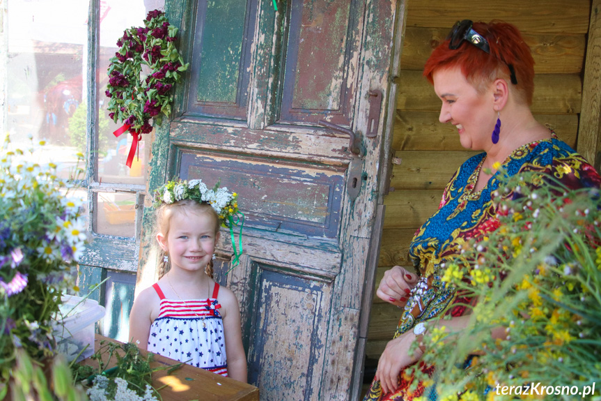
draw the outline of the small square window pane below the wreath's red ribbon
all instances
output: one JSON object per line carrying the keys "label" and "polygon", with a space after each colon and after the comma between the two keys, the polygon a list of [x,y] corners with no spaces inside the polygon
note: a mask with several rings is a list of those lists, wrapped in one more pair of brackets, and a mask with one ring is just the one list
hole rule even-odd
{"label": "small square window pane below the wreath's red ribbon", "polygon": [[136,195],[119,192],[97,192],[95,195],[94,232],[133,238],[136,228]]}

